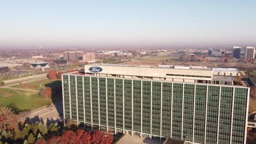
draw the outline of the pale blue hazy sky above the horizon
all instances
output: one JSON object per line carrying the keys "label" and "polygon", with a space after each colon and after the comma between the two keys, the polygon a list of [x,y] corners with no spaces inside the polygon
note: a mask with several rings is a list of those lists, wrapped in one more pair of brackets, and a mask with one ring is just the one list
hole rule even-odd
{"label": "pale blue hazy sky above the horizon", "polygon": [[256,1],[1,1],[0,45],[256,44]]}

